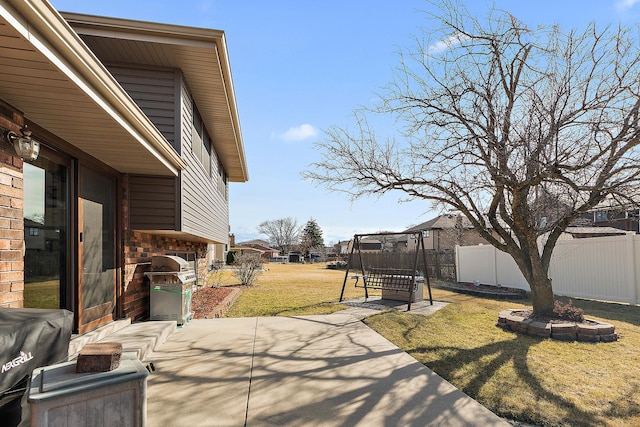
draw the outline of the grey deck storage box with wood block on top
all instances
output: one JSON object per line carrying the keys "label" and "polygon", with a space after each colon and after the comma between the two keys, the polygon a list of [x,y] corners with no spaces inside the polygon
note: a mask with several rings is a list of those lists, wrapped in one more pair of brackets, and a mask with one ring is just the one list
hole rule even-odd
{"label": "grey deck storage box with wood block on top", "polygon": [[31,426],[143,427],[148,375],[132,356],[108,372],[76,373],[76,362],[38,368],[28,389]]}

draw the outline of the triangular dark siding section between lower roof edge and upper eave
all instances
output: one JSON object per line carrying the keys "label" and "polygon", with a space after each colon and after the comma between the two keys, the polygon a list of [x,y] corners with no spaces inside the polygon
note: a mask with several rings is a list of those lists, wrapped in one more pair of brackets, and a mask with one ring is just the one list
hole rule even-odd
{"label": "triangular dark siding section between lower roof edge and upper eave", "polygon": [[121,66],[110,66],[109,71],[167,141],[180,152],[175,120],[177,71]]}

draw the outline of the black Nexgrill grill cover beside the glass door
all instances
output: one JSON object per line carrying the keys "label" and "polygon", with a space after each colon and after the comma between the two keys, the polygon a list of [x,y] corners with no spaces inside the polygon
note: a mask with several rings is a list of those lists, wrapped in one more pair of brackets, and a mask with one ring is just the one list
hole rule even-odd
{"label": "black Nexgrill grill cover beside the glass door", "polygon": [[35,368],[67,361],[72,327],[67,310],[0,308],[0,419],[19,415]]}

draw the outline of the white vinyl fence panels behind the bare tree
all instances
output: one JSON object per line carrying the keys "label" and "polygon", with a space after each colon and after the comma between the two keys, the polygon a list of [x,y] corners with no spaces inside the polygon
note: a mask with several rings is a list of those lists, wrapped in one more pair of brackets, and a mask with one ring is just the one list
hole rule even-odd
{"label": "white vinyl fence panels behind the bare tree", "polygon": [[[456,247],[458,282],[530,290],[510,255],[491,245]],[[549,275],[556,295],[640,304],[640,235],[559,240]]]}

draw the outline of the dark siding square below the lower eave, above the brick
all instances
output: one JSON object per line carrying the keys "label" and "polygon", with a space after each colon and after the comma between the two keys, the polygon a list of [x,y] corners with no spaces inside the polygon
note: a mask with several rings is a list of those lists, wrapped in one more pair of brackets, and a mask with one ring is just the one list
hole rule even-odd
{"label": "dark siding square below the lower eave, above the brick", "polygon": [[176,230],[176,178],[129,177],[129,228]]}

